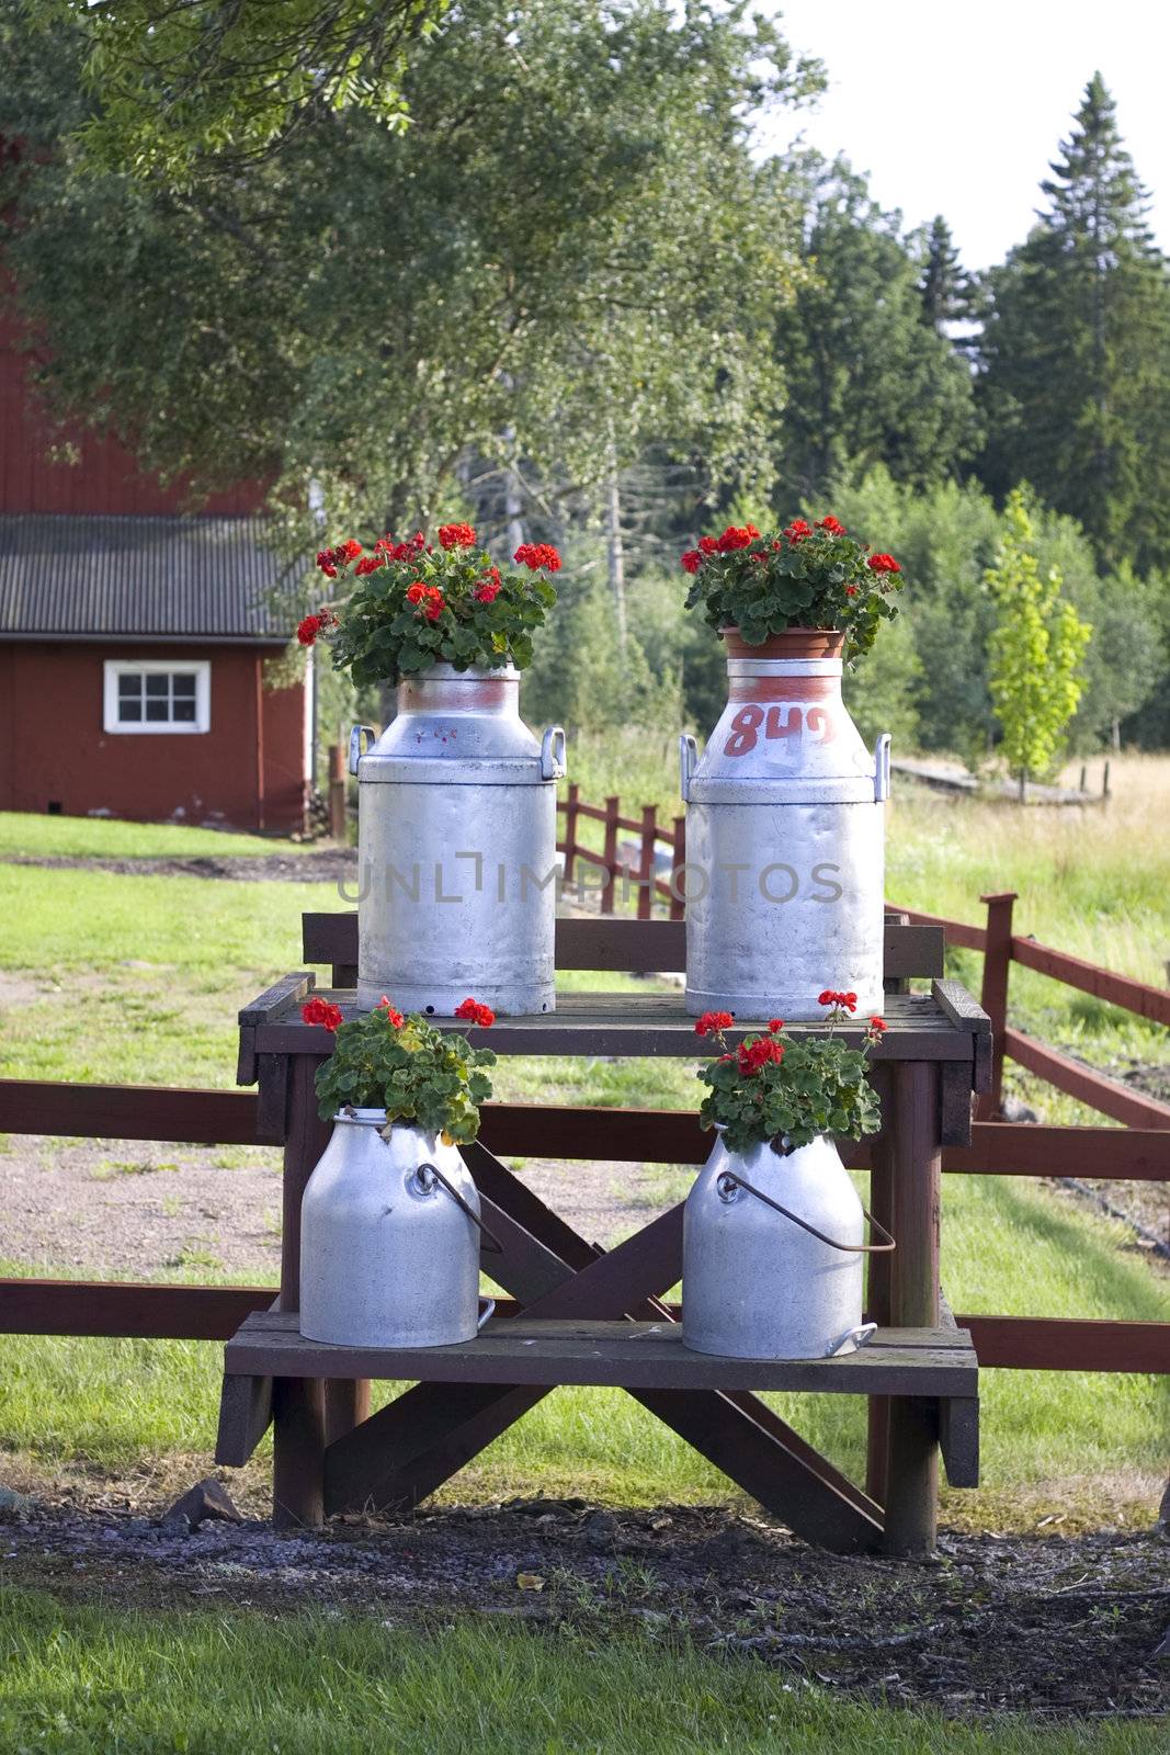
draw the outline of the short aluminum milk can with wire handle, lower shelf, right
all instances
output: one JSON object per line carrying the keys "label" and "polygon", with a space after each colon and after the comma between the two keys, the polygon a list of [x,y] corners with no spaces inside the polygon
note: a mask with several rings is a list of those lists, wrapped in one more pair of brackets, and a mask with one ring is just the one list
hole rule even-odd
{"label": "short aluminum milk can with wire handle, lower shelf, right", "polygon": [[682,1216],[682,1343],[728,1358],[830,1358],[875,1330],[861,1320],[858,1192],[831,1139],[795,1151],[716,1141]]}

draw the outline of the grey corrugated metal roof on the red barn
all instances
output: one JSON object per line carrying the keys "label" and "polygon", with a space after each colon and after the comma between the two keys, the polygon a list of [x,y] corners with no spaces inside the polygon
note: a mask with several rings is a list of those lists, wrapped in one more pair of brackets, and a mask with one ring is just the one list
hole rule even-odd
{"label": "grey corrugated metal roof on the red barn", "polygon": [[286,574],[254,518],[0,514],[0,639],[288,639]]}

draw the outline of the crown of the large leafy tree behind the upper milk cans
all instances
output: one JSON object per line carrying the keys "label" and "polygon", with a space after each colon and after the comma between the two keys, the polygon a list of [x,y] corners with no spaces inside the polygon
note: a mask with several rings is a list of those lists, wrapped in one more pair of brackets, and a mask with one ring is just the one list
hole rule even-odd
{"label": "crown of the large leafy tree behind the upper milk cans", "polygon": [[746,114],[819,74],[746,5],[477,0],[409,65],[405,132],[314,111],[191,190],[53,149],[84,42],[72,79],[19,33],[0,47],[0,128],[32,147],[4,249],[40,381],[149,467],[274,477],[302,541],[310,481],[333,526],[393,528],[468,456],[551,505],[663,435],[716,481],[767,479],[798,265]]}

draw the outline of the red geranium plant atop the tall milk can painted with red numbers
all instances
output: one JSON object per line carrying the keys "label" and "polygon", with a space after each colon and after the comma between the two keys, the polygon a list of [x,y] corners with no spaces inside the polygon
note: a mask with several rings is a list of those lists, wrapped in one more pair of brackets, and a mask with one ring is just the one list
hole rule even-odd
{"label": "red geranium plant atop the tall milk can painted with red numbers", "polygon": [[786,628],[838,628],[856,658],[898,612],[889,602],[902,586],[898,563],[868,555],[831,516],[816,525],[793,519],[770,537],[754,525],[728,525],[717,539],[700,537],[682,567],[693,574],[686,607],[702,604],[709,628],[738,628],[749,646]]}

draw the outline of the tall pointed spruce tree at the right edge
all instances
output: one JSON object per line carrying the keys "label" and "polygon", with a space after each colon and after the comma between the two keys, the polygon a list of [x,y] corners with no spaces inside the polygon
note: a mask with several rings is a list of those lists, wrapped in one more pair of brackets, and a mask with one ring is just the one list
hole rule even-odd
{"label": "tall pointed spruce tree at the right edge", "polygon": [[1021,479],[1110,563],[1170,541],[1170,272],[1100,74],[1028,240],[989,276],[981,358],[996,497]]}

